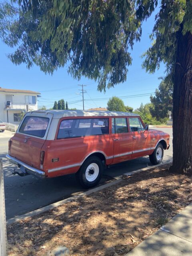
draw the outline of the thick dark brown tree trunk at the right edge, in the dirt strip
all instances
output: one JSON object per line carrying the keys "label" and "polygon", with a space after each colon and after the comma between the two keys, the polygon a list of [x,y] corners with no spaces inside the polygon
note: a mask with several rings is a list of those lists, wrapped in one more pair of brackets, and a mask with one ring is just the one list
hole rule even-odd
{"label": "thick dark brown tree trunk at the right edge, in the dirt strip", "polygon": [[192,34],[177,34],[171,172],[192,175]]}

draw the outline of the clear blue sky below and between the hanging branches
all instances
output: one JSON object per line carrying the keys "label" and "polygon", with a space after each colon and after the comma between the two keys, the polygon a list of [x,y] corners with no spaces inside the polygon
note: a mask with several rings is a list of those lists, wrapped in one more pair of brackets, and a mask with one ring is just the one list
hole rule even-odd
{"label": "clear blue sky below and between the hanging branches", "polygon": [[[25,64],[15,66],[6,57],[6,54],[13,51],[12,48],[2,42],[0,42],[0,87],[38,91],[41,93],[39,106],[45,105],[50,108],[55,100],[64,98],[65,101],[68,101],[69,108],[77,109],[82,109],[82,102],[70,102],[82,100],[82,97],[76,94],[80,92],[78,84],[86,84],[85,90],[87,93],[84,98],[89,99],[89,101],[85,101],[85,109],[107,106],[108,99],[92,100],[96,98],[132,96],[155,92],[160,83],[158,77],[164,76],[164,65],[155,74],[148,74],[141,68],[143,60],[140,57],[151,44],[149,35],[154,26],[154,16],[155,14],[143,24],[141,40],[134,45],[134,50],[131,52],[133,60],[132,65],[128,67],[126,82],[118,84],[115,88],[107,89],[105,94],[97,91],[97,83],[93,80],[84,77],[80,81],[74,80],[68,75],[67,66],[55,71],[52,76],[44,74],[37,66],[33,66],[30,70],[26,68]],[[144,104],[150,102],[150,96],[132,96],[131,98],[124,98],[123,101],[125,105],[135,109],[140,106],[141,102]]]}

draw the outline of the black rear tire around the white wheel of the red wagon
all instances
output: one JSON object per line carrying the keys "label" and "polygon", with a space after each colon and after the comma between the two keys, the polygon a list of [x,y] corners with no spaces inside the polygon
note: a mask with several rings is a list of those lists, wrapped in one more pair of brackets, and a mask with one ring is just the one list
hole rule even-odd
{"label": "black rear tire around the white wheel of the red wagon", "polygon": [[[96,169],[94,169],[94,166],[93,167],[91,166],[91,168],[89,170],[87,170],[87,168],[90,164],[94,164]],[[87,170],[87,172],[86,172],[86,170]],[[91,173],[90,171],[93,173]],[[94,176],[92,176],[94,174],[94,172],[95,172],[95,175],[97,175],[97,173],[98,173],[98,175],[95,177],[95,179],[94,179]],[[99,183],[101,176],[102,176],[102,172],[103,172],[103,164],[102,164],[102,161],[100,160],[100,158],[98,158],[97,156],[90,156],[89,158],[87,158],[85,160],[85,162],[82,164],[82,166],[76,173],[76,178],[83,188],[92,188]],[[86,178],[86,176],[88,176],[88,175],[90,175],[90,179],[94,179],[94,180],[89,181]]]}

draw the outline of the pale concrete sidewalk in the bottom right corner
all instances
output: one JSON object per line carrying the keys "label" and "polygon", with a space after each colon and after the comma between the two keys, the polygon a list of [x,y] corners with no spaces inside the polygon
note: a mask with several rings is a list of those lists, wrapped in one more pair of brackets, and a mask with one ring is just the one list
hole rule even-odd
{"label": "pale concrete sidewalk in the bottom right corner", "polygon": [[192,256],[192,204],[126,256]]}

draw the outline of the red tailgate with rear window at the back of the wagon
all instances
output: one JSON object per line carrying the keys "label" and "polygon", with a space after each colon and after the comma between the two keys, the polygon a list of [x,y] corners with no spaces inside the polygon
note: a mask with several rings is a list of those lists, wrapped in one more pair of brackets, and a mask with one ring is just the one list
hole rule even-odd
{"label": "red tailgate with rear window at the back of the wagon", "polygon": [[11,139],[10,155],[39,168],[40,152],[46,140],[51,116],[26,116]]}

